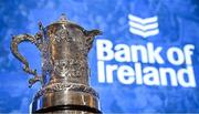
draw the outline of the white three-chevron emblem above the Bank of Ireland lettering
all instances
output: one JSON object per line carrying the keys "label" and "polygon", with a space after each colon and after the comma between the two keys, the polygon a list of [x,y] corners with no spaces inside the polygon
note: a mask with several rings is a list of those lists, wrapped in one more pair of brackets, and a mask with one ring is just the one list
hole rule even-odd
{"label": "white three-chevron emblem above the Bank of Ireland lettering", "polygon": [[142,19],[139,17],[128,14],[129,32],[133,34],[148,38],[159,33],[158,17],[149,17]]}

